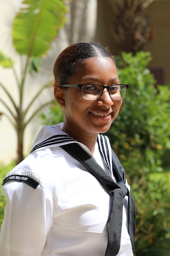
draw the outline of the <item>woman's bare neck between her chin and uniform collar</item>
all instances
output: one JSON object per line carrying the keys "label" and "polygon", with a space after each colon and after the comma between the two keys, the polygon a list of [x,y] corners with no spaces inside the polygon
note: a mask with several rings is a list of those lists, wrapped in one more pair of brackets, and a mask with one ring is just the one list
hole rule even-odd
{"label": "woman's bare neck between her chin and uniform collar", "polygon": [[80,132],[79,130],[70,129],[70,128],[68,129],[65,124],[62,130],[63,132],[69,134],[71,137],[75,138],[77,141],[86,145],[92,154],[94,153],[95,143],[97,141],[98,134],[95,133],[94,135],[89,135],[89,134]]}

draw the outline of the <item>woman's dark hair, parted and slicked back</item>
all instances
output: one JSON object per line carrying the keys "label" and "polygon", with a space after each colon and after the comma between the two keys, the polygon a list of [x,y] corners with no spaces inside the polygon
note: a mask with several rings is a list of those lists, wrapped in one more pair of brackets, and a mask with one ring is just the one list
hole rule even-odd
{"label": "woman's dark hair, parted and slicked back", "polygon": [[53,85],[61,85],[67,83],[67,78],[81,70],[84,59],[96,56],[112,58],[108,48],[100,45],[100,43],[75,43],[63,50],[54,64],[54,83]]}

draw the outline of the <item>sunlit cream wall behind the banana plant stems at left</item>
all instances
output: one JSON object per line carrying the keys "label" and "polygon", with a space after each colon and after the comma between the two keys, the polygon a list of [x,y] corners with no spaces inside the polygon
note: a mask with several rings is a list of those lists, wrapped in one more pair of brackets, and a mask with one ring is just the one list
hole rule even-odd
{"label": "sunlit cream wall behind the banana plant stems at left", "polygon": [[[20,73],[20,59],[13,48],[11,26],[15,12],[19,9],[21,1],[0,0],[0,50],[14,59],[18,74]],[[28,104],[31,96],[35,94],[35,91],[38,90],[39,86],[52,80],[54,61],[67,45],[77,41],[94,40],[97,0],[73,0],[72,3],[74,4],[74,10],[72,13],[69,12],[67,14],[67,23],[60,30],[58,38],[52,43],[52,48],[43,61],[41,72],[35,77],[29,77],[27,80],[24,100],[25,106]],[[74,20],[73,25],[72,20]],[[17,101],[18,91],[12,70],[0,67],[0,81],[13,92],[14,100]],[[0,95],[2,94],[3,91],[0,88]],[[50,95],[53,97],[52,94]],[[5,94],[3,94],[3,99],[7,104],[10,104]],[[0,102],[0,112],[4,111],[5,108]],[[24,137],[25,155],[30,151],[31,145],[41,126],[41,120],[38,117],[34,118],[30,125],[27,126]],[[16,143],[16,132],[8,119],[3,115],[0,118],[0,165],[2,162],[9,163],[13,159],[16,159]]]}

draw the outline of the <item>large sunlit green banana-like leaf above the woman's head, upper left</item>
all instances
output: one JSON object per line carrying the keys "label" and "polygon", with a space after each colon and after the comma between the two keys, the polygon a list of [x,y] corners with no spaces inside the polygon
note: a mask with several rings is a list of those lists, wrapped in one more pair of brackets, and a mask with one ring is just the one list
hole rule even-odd
{"label": "large sunlit green banana-like leaf above the woman's head, upper left", "polygon": [[40,57],[64,26],[64,0],[24,0],[13,21],[13,43],[20,55]]}

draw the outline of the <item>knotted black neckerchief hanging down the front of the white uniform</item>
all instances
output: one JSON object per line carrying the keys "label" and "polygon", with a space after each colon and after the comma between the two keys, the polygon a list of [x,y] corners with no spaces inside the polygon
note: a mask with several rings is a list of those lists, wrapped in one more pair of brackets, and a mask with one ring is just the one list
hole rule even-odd
{"label": "knotted black neckerchief hanging down the front of the white uniform", "polygon": [[135,206],[134,200],[127,189],[125,172],[114,151],[112,151],[112,165],[117,183],[107,175],[97,162],[82,149],[78,143],[61,145],[65,151],[77,159],[87,170],[98,179],[111,197],[110,213],[107,219],[108,243],[105,256],[116,256],[120,249],[122,230],[123,198],[128,195],[128,232],[134,252],[135,238]]}

